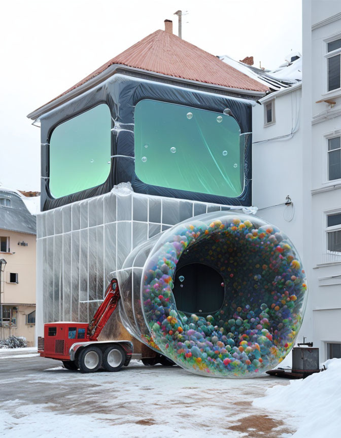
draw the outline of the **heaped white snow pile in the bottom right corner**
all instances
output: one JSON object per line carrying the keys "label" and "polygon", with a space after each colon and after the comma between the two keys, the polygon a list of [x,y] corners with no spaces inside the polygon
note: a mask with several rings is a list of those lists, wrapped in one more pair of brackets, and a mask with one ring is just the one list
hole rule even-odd
{"label": "heaped white snow pile in the bottom right corner", "polygon": [[341,359],[329,359],[324,365],[327,371],[269,388],[253,406],[282,411],[297,427],[294,438],[339,436]]}

